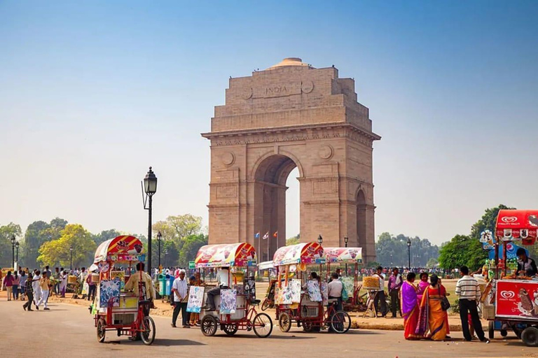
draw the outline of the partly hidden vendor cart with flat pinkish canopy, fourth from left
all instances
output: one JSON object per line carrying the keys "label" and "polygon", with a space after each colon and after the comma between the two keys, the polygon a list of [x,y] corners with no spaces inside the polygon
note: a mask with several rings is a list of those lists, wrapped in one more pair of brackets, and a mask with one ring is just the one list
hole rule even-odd
{"label": "partly hidden vendor cart with flat pinkish canopy, fourth from left", "polygon": [[[357,299],[359,298],[359,291],[361,285],[359,285],[359,265],[362,264],[362,248],[324,248],[327,273],[326,277],[329,278],[331,274],[331,267],[345,265],[345,275],[340,280],[342,281],[345,291],[350,296],[348,299],[343,298],[344,306],[347,309],[353,309],[357,306]],[[347,276],[347,265],[351,265],[353,269],[353,277]]]}

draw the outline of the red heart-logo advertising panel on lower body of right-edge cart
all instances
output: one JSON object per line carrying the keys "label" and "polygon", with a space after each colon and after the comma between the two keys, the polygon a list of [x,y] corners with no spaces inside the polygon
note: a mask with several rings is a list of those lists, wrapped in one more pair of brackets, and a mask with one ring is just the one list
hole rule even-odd
{"label": "red heart-logo advertising panel on lower body of right-edge cart", "polygon": [[495,316],[518,319],[538,317],[538,282],[497,281]]}

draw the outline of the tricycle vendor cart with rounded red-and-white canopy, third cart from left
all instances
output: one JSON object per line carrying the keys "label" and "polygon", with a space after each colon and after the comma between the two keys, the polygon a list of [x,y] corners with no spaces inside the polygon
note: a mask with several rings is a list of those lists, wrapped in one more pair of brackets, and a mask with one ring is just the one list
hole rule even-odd
{"label": "tricycle vendor cart with rounded red-and-white canopy, third cart from left", "polygon": [[321,268],[324,263],[324,249],[319,243],[284,246],[275,252],[275,306],[281,331],[288,332],[293,322],[298,327],[302,325],[305,331],[329,328],[336,333],[345,333],[350,329],[350,316],[343,310],[336,310],[337,300],[328,299],[326,282],[315,279],[303,282],[302,273],[308,266],[319,265]]}

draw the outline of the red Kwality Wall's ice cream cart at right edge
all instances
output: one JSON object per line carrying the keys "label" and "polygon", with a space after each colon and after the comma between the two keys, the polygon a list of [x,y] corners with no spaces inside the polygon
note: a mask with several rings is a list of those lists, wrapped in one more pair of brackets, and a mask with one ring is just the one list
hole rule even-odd
{"label": "red Kwality Wall's ice cream cart at right edge", "polygon": [[534,245],[537,229],[538,210],[499,210],[495,237],[488,243],[495,246],[495,278],[481,300],[485,319],[510,327],[523,343],[532,347],[538,347],[538,277],[524,271],[516,275],[507,259],[511,257],[509,250],[516,246],[512,243]]}

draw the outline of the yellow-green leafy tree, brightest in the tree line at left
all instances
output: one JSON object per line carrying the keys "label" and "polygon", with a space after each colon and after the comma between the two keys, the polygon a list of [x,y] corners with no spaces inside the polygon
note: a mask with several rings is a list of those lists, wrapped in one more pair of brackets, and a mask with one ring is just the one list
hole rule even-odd
{"label": "yellow-green leafy tree, brightest in the tree line at left", "polygon": [[81,224],[68,224],[60,231],[60,237],[47,241],[39,248],[38,262],[43,265],[69,267],[73,248],[73,267],[89,264],[88,255],[95,253],[97,245],[91,234]]}

